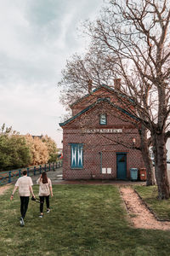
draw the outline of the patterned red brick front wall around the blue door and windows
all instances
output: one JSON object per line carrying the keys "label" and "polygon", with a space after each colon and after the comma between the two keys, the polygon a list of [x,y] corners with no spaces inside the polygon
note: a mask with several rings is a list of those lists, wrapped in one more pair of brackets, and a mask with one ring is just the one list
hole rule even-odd
{"label": "patterned red brick front wall around the blue door and windows", "polygon": [[[107,113],[107,125],[99,125],[101,112]],[[87,133],[84,129],[88,128],[121,128],[122,133]],[[139,133],[131,119],[116,112],[107,103],[97,105],[63,127],[64,179],[115,179],[116,153],[119,152],[127,153],[127,178],[130,178],[130,168],[144,167],[140,151],[130,148],[133,146],[133,138],[139,143]],[[83,144],[82,169],[71,169],[70,143]],[[102,152],[102,166],[99,152]],[[102,174],[101,167],[111,168],[111,174]]]}

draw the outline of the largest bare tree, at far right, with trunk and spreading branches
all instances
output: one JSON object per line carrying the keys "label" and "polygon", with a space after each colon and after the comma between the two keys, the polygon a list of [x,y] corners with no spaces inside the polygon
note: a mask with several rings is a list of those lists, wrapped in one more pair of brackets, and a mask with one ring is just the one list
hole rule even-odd
{"label": "largest bare tree, at far right, with trunk and spreading branches", "polygon": [[160,199],[169,198],[166,140],[170,96],[170,3],[167,0],[112,0],[99,20],[86,25],[93,44],[116,58],[122,92],[117,99],[150,131]]}

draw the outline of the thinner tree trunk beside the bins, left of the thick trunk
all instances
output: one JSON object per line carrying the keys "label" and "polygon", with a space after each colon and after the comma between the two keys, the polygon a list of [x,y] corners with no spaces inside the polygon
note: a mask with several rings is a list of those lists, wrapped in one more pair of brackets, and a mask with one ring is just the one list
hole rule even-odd
{"label": "thinner tree trunk beside the bins, left of the thick trunk", "polygon": [[155,185],[155,177],[153,164],[150,159],[150,152],[148,148],[148,140],[147,140],[147,129],[142,125],[141,130],[139,131],[140,142],[141,142],[141,152],[144,160],[144,166],[146,168],[146,186]]}

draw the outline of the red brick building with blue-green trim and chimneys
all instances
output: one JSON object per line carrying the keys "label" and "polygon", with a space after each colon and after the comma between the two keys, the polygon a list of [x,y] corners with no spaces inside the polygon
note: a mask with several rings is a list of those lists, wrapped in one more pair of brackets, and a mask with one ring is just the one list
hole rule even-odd
{"label": "red brick building with blue-green trim and chimneys", "polygon": [[101,85],[89,91],[71,105],[71,119],[59,124],[64,179],[129,179],[130,168],[144,167],[140,151],[132,148],[139,143],[135,118],[114,90]]}

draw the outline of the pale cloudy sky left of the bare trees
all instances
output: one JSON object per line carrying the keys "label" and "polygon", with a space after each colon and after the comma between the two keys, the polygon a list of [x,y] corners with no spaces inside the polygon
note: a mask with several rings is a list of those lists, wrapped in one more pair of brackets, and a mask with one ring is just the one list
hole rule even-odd
{"label": "pale cloudy sky left of the bare trees", "polygon": [[[0,0],[0,123],[61,147],[61,69],[85,45],[77,27],[103,0]],[[60,129],[61,130],[61,129]]]}

